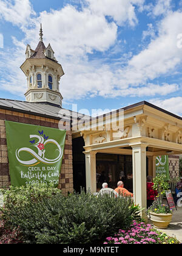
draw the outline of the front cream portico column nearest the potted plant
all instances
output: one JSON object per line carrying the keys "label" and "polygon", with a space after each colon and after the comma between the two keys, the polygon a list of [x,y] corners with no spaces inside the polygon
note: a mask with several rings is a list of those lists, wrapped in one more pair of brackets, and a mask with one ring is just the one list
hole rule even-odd
{"label": "front cream portico column nearest the potted plant", "polygon": [[[141,208],[147,207],[146,191],[146,144],[136,144],[132,146],[133,157],[133,199],[135,204]],[[145,210],[141,216],[146,217]]]}

